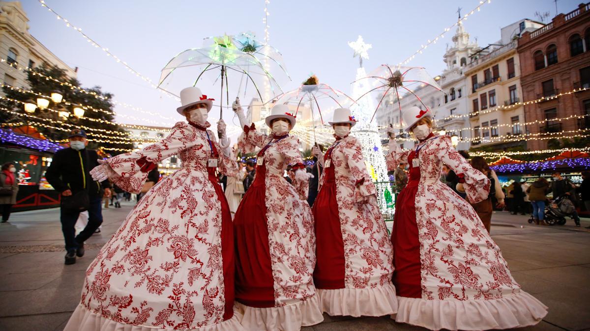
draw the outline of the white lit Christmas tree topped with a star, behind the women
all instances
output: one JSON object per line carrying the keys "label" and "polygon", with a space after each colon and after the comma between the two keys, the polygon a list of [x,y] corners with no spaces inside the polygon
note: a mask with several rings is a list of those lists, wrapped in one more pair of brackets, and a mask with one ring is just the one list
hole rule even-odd
{"label": "white lit Christmas tree topped with a star, behind the women", "polygon": [[[360,80],[360,78],[367,75],[363,67],[363,58],[369,58],[367,51],[372,46],[366,44],[361,36],[356,41],[349,42],[348,45],[355,51],[354,57],[359,57],[359,68],[356,69],[356,79],[352,84],[352,98],[356,100],[368,91],[369,80]],[[353,127],[352,134],[359,140],[362,147],[369,175],[374,182],[381,182],[376,185],[381,213],[393,215],[394,193],[388,183],[385,183],[389,181],[389,177],[387,176],[385,155],[381,147],[381,135],[379,135],[377,123],[371,122],[371,115],[375,110],[373,100],[370,97],[363,97],[357,101],[357,104],[353,104],[350,110],[358,121]]]}

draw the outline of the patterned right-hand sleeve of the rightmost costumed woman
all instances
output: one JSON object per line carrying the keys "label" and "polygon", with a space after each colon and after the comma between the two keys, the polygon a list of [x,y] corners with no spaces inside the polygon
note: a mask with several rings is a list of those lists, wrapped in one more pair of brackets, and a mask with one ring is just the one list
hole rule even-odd
{"label": "patterned right-hand sleeve of the rightmost costumed woman", "polygon": [[451,137],[443,135],[435,138],[432,148],[435,148],[434,153],[439,160],[455,171],[455,174],[460,178],[459,182],[463,183],[463,188],[471,203],[478,203],[487,198],[490,193],[490,180],[481,171],[471,167],[471,164],[457,153],[451,144]]}

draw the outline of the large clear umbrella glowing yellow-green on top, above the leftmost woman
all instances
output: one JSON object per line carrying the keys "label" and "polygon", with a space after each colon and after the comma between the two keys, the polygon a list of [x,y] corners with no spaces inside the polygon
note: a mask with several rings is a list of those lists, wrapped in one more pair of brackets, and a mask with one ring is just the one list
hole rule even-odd
{"label": "large clear umbrella glowing yellow-green on top, above the leftmost woman", "polygon": [[253,55],[240,51],[228,36],[215,38],[214,44],[208,47],[186,49],[173,57],[162,69],[158,87],[178,96],[183,88],[205,80],[212,82],[214,87],[221,85],[220,116],[224,108],[224,94],[225,107],[230,107],[230,81],[235,86],[249,81],[263,102],[267,100],[260,92],[261,86],[274,86],[280,90],[263,64]]}

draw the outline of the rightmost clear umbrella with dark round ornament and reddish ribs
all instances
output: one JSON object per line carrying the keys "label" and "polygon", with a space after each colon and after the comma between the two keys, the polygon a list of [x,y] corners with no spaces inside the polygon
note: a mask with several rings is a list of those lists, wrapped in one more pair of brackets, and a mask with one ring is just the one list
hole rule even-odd
{"label": "rightmost clear umbrella with dark round ornament and reddish ribs", "polygon": [[357,81],[360,80],[369,80],[369,84],[368,91],[361,94],[357,101],[363,97],[373,97],[373,100],[379,100],[371,121],[379,110],[383,99],[388,95],[392,95],[394,102],[397,102],[399,118],[401,118],[402,106],[400,100],[402,98],[415,98],[424,108],[428,108],[418,94],[423,94],[428,89],[434,89],[442,93],[438,83],[422,67],[400,67],[398,65],[382,64],[369,72],[366,77],[359,78]]}

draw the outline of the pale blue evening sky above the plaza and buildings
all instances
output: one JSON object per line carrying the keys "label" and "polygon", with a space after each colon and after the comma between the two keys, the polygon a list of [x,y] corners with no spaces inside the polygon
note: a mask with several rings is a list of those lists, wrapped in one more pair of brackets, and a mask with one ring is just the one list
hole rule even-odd
{"label": "pale blue evening sky above the plaza and buildings", "polygon": [[[110,49],[131,67],[158,81],[160,69],[174,55],[187,48],[201,47],[202,39],[211,35],[255,32],[264,38],[264,0],[225,1],[74,1],[45,0],[58,14],[82,28],[82,31]],[[287,70],[293,81],[283,88],[292,90],[310,73],[344,92],[350,92],[355,78],[358,59],[347,42],[362,35],[372,44],[369,59],[363,60],[367,71],[380,64],[396,64],[413,54],[428,39],[433,39],[445,27],[457,21],[457,8],[461,15],[471,11],[479,0],[460,1],[346,1],[346,0],[271,0],[268,5],[270,44],[283,54]],[[558,12],[567,13],[581,0],[559,0]],[[71,67],[78,67],[78,80],[84,87],[98,85],[112,92],[114,100],[126,102],[145,110],[178,117],[178,102],[165,97],[146,82],[130,74],[123,65],[107,57],[100,48],[89,42],[63,21],[42,8],[36,0],[23,0],[22,5],[30,18],[30,32],[48,49]],[[480,46],[500,39],[500,28],[522,18],[538,20],[535,12],[550,12],[555,16],[552,0],[491,0],[480,12],[464,21],[471,39],[477,38]],[[445,38],[429,46],[409,65],[427,68],[435,76],[445,64],[442,55],[446,44],[452,45],[455,29]],[[231,82],[230,82],[231,83]],[[219,92],[199,86],[207,95],[218,99]],[[232,96],[230,96],[232,98]],[[247,104],[247,100],[242,104]],[[171,121],[137,113],[117,106],[121,114],[135,115],[170,125]],[[226,122],[232,120],[230,112],[224,114]],[[218,117],[212,111],[210,118]],[[179,118],[181,120],[182,118]],[[133,121],[119,117],[119,121],[154,125],[150,121]]]}

